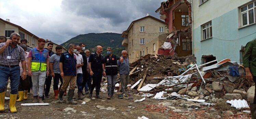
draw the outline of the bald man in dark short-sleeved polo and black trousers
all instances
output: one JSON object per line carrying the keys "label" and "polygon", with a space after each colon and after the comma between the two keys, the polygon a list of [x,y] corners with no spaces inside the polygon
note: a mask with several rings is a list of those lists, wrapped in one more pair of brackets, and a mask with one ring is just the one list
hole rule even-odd
{"label": "bald man in dark short-sleeved polo and black trousers", "polygon": [[96,87],[96,98],[101,99],[100,96],[100,83],[102,75],[105,76],[105,69],[104,69],[104,59],[103,55],[101,54],[102,47],[98,45],[96,47],[96,52],[92,53],[88,60],[88,67],[90,70],[90,75],[92,76],[92,86],[89,93],[89,97],[92,97],[92,92],[94,88]]}

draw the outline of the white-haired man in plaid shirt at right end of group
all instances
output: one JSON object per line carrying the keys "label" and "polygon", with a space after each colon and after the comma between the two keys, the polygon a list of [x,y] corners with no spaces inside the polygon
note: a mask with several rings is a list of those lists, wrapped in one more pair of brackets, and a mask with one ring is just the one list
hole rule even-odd
{"label": "white-haired man in plaid shirt at right end of group", "polygon": [[126,95],[125,89],[129,83],[129,72],[130,72],[129,59],[126,55],[127,55],[126,51],[123,50],[120,60],[117,61],[117,67],[118,67],[120,80],[121,80],[121,92],[123,95]]}

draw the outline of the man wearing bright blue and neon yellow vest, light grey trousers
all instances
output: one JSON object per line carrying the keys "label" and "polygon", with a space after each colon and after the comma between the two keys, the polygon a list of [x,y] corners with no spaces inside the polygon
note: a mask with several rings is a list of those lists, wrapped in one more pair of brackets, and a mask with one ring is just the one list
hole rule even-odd
{"label": "man wearing bright blue and neon yellow vest, light grey trousers", "polygon": [[[43,103],[43,87],[46,75],[49,74],[49,54],[44,49],[45,40],[39,38],[37,47],[29,51],[28,54],[28,75],[33,82],[33,103]],[[37,95],[38,92],[38,95]]]}

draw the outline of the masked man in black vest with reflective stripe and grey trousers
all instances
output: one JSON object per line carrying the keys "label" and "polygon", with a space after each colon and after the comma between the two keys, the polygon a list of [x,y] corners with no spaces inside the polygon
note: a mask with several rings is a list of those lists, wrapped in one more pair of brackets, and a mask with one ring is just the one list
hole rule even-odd
{"label": "masked man in black vest with reflective stripe and grey trousers", "polygon": [[120,58],[117,55],[113,54],[112,48],[107,48],[107,56],[104,57],[104,64],[105,64],[105,72],[107,75],[107,99],[110,100],[113,97],[115,84],[116,84],[116,77],[117,77],[117,60]]}

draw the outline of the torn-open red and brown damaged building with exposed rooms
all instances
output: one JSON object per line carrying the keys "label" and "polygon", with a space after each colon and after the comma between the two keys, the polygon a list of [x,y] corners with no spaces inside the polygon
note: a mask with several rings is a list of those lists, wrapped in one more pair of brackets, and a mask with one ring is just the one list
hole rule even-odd
{"label": "torn-open red and brown damaged building with exposed rooms", "polygon": [[192,54],[191,4],[186,0],[167,0],[155,11],[161,14],[169,34],[158,54],[187,56]]}

